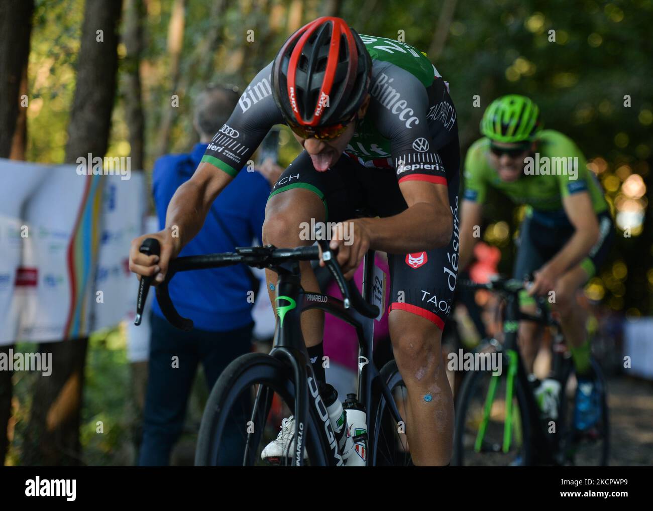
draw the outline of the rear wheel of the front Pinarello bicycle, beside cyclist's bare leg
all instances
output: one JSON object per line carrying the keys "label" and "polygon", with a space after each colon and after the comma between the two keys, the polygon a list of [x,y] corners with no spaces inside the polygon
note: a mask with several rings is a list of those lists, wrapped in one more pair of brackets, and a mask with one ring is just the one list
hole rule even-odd
{"label": "rear wheel of the front Pinarello bicycle, beside cyclist's bare leg", "polygon": [[[397,364],[390,360],[380,371],[394,397],[399,414],[406,416],[407,391]],[[407,467],[412,465],[410,450],[403,424],[396,424],[388,403],[380,390],[372,395],[372,414],[370,415],[370,466]]]}

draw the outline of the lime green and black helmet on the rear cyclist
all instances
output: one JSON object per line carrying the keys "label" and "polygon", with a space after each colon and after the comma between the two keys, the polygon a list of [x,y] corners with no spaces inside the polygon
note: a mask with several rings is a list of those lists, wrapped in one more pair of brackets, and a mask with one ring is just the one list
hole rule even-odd
{"label": "lime green and black helmet on the rear cyclist", "polygon": [[498,97],[483,114],[481,133],[497,142],[532,140],[542,129],[539,108],[526,96]]}

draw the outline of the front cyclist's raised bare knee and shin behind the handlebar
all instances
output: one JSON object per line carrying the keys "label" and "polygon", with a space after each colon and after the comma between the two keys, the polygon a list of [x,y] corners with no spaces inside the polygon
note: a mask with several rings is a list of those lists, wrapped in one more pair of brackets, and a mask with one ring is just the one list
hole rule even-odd
{"label": "front cyclist's raised bare knee and shin behind the handlebar", "polygon": [[[276,194],[268,200],[263,223],[263,243],[276,247],[299,247],[312,245],[313,241],[300,240],[300,224],[325,221],[325,206],[315,193],[304,188],[293,188]],[[300,262],[302,271],[302,287],[307,292],[320,292],[317,279],[310,261]],[[276,286],[278,275],[272,270],[265,270],[266,287],[270,296],[272,308],[276,306]],[[270,288],[274,286],[274,290]],[[302,333],[306,347],[312,347],[322,342],[324,331],[323,311],[312,310],[302,314]]]}

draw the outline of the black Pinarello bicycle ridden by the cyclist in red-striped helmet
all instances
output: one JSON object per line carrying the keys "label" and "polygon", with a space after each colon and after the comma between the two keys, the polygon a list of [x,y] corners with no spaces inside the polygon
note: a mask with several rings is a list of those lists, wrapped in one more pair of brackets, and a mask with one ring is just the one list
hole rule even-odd
{"label": "black Pinarello bicycle ridden by the cyclist in red-striped helmet", "polygon": [[[364,410],[366,424],[360,429],[352,427],[356,448],[351,456],[360,456],[362,462],[358,465],[411,465],[406,436],[398,426],[404,424],[400,410],[406,409],[406,387],[394,360],[379,370],[372,356],[374,318],[379,315],[374,303],[380,304],[383,296],[382,283],[374,273],[374,251],[368,251],[362,262],[361,296],[353,280],[345,281],[328,241],[319,244],[321,251],[317,246],[279,249],[266,245],[236,247],[235,253],[176,258],[170,263],[165,281],[157,286],[157,300],[170,324],[189,330],[192,320],[177,313],[168,294],[168,282],[175,273],[248,264],[271,268],[279,275],[279,321],[272,351],[236,358],[215,382],[200,426],[195,465],[345,465],[302,337],[300,317],[310,309],[342,319],[357,333],[358,390],[347,395],[346,405]],[[157,254],[157,240],[145,240],[140,251]],[[302,288],[300,261],[320,258],[338,283],[343,300]],[[136,324],[140,323],[149,286],[147,277],[141,279]],[[264,446],[275,439],[279,424],[283,426],[282,419],[289,414],[293,414],[296,426],[287,451],[263,459]]]}

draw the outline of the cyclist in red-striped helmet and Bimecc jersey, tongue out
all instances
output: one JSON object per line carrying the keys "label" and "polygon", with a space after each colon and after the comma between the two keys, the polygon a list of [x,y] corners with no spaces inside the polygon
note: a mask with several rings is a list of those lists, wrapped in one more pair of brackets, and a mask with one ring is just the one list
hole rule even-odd
{"label": "cyclist in red-striped helmet and Bimecc jersey, tongue out", "polygon": [[[278,123],[291,127],[304,150],[272,189],[263,241],[311,245],[306,226],[333,223],[331,247],[347,278],[370,247],[389,254],[390,337],[408,392],[411,456],[415,465],[447,465],[453,398],[440,344],[458,271],[460,153],[448,86],[422,52],[358,35],[340,18],[296,31],[246,87],[195,175],[172,198],[165,230],[133,241],[130,268],[163,281],[170,258]],[[356,218],[358,208],[374,217]],[[138,253],[148,237],[159,239],[159,258]],[[268,271],[266,281],[274,303],[276,273]],[[319,292],[310,264],[302,266],[302,286]],[[315,375],[325,381],[323,322],[321,311],[308,311],[302,332]],[[286,426],[279,445],[292,437],[293,423]]]}

